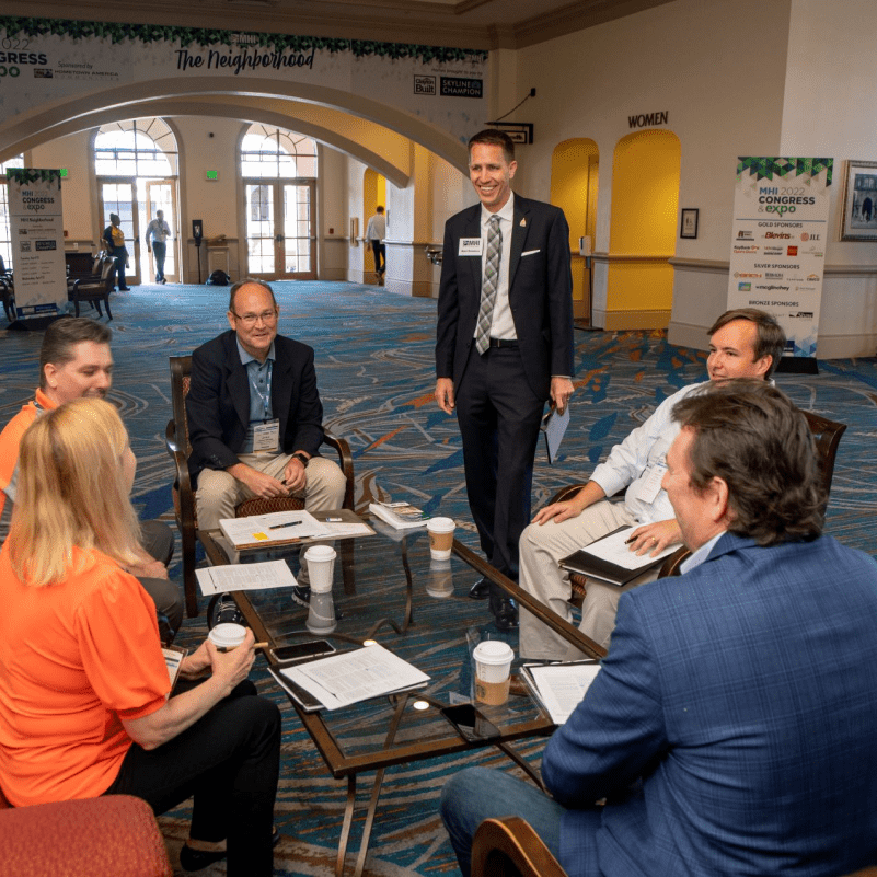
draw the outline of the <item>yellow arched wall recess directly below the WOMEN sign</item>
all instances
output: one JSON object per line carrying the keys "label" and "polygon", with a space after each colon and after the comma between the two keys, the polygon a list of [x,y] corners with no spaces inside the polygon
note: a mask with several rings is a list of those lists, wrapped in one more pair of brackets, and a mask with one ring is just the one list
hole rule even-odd
{"label": "yellow arched wall recess directly below the WOMEN sign", "polygon": [[637,131],[615,147],[605,328],[670,322],[681,154],[666,130]]}

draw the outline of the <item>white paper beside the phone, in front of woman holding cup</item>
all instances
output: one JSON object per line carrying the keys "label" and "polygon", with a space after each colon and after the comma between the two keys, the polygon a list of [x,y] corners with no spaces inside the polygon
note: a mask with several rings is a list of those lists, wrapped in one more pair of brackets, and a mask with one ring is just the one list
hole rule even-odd
{"label": "white paper beside the phone, in front of woman holding cup", "polygon": [[429,681],[426,673],[378,644],[286,667],[280,672],[313,694],[326,709],[418,688]]}

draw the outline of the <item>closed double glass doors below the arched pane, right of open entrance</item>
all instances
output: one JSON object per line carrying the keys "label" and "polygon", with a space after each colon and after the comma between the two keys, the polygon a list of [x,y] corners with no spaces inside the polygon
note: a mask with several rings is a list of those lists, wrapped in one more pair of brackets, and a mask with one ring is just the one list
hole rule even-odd
{"label": "closed double glass doors below the arched pane, right of open entrance", "polygon": [[247,274],[266,280],[313,280],[315,184],[311,180],[244,183]]}

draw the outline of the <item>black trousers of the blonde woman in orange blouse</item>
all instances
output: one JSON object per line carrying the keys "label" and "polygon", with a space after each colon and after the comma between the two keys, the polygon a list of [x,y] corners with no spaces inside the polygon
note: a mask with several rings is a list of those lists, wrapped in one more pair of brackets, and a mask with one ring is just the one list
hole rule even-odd
{"label": "black trousers of the blonde woman in orange blouse", "polygon": [[104,794],[142,798],[155,816],[194,795],[189,835],[228,840],[230,877],[272,877],[279,772],[280,711],[244,680],[163,746],[134,743]]}

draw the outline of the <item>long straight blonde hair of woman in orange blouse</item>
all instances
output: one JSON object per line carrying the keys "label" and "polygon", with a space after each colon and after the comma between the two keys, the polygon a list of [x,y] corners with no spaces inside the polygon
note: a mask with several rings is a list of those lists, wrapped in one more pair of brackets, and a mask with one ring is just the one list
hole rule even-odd
{"label": "long straight blonde hair of woman in orange blouse", "polygon": [[[136,563],[140,528],[122,458],[128,434],[116,409],[77,399],[37,417],[19,451],[19,487],[9,529],[12,568],[43,587],[80,573],[97,549]],[[73,566],[73,549],[85,550]]]}

